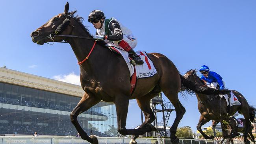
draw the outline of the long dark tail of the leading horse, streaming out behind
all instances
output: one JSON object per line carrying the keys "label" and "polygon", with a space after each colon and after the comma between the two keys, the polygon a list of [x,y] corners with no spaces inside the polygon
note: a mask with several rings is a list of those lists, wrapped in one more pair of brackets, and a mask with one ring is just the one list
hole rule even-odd
{"label": "long dark tail of the leading horse, streaming out behind", "polygon": [[186,78],[184,78],[181,74],[180,74],[180,79],[182,81],[182,90],[186,90],[187,93],[189,94],[195,94],[195,93],[199,93],[199,94],[228,94],[230,93],[230,90],[224,89],[224,90],[218,90],[218,89],[214,89],[214,88],[210,88],[210,87],[200,87],[198,85],[196,85],[196,83],[187,80]]}

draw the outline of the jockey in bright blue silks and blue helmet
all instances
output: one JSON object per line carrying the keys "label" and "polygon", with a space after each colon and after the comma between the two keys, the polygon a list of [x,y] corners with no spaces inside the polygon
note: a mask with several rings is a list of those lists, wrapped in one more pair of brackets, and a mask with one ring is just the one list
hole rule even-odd
{"label": "jockey in bright blue silks and blue helmet", "polygon": [[210,72],[210,69],[208,66],[206,65],[201,66],[199,72],[202,74],[200,76],[200,79],[210,83],[210,85],[208,85],[209,87],[217,88],[217,86],[219,85],[220,90],[224,89],[224,82],[221,76],[216,72]]}

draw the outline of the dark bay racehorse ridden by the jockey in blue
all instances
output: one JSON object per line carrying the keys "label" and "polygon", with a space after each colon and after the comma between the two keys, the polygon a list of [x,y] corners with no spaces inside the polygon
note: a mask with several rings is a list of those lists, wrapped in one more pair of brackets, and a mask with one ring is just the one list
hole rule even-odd
{"label": "dark bay racehorse ridden by the jockey in blue", "polygon": [[[201,81],[201,79],[197,76],[196,70],[189,70],[184,75],[184,78],[188,79],[189,81],[195,82],[197,86],[207,87],[204,81]],[[232,91],[233,94],[238,98],[238,101],[241,103],[241,105],[233,105],[232,107],[230,107],[228,113],[225,98],[221,98],[219,95],[214,94],[209,95],[196,93],[198,100],[198,110],[201,114],[199,122],[197,124],[197,130],[200,131],[204,138],[212,139],[213,136],[207,136],[202,131],[201,127],[210,120],[214,120],[215,122],[213,123],[215,124],[221,122],[223,138],[228,138],[227,125],[225,124],[225,122],[229,119],[230,116],[233,116],[236,111],[238,111],[238,113],[243,114],[245,118],[246,129],[244,132],[244,142],[249,142],[247,140],[247,135],[251,126],[251,122],[254,120],[256,109],[248,104],[245,97],[241,93],[237,92],[236,90],[230,91]]]}

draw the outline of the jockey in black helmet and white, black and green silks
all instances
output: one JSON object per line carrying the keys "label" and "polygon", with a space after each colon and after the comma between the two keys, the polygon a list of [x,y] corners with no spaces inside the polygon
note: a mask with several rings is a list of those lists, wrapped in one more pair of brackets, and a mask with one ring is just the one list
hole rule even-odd
{"label": "jockey in black helmet and white, black and green silks", "polygon": [[89,14],[88,22],[91,22],[94,28],[96,28],[96,35],[93,36],[93,39],[112,41],[128,52],[129,56],[133,59],[130,63],[134,65],[142,65],[144,63],[132,50],[137,45],[137,39],[132,34],[132,31],[124,27],[115,18],[106,19],[102,11],[94,10]]}

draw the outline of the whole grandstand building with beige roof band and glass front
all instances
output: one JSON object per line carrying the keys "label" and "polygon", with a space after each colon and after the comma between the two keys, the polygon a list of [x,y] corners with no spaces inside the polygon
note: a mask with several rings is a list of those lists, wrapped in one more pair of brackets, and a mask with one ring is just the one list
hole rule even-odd
{"label": "whole grandstand building with beige roof band and glass front", "polygon": [[[81,86],[0,67],[0,134],[77,134],[70,112],[83,96]],[[78,116],[88,135],[109,137],[117,127],[115,105],[100,102]]]}

